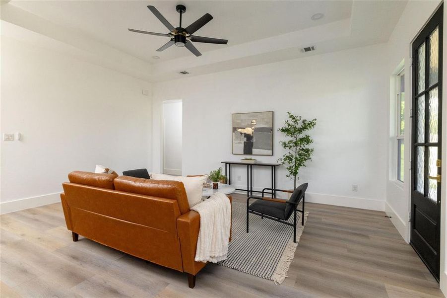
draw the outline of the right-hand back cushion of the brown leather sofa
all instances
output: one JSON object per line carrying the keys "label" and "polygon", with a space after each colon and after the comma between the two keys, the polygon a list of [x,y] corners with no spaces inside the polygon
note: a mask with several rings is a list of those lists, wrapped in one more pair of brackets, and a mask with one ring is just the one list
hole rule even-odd
{"label": "right-hand back cushion of the brown leather sofa", "polygon": [[120,176],[114,180],[114,185],[115,189],[120,191],[177,200],[181,214],[190,211],[185,186],[182,182]]}

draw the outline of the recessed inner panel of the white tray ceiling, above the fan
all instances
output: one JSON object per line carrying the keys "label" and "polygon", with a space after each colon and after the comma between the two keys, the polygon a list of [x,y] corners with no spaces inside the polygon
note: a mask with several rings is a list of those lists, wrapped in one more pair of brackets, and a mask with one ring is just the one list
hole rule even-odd
{"label": "recessed inner panel of the white tray ceiling, above the fan", "polygon": [[[146,7],[154,5],[174,27],[179,25],[178,3],[187,7],[182,16],[183,27],[205,13],[214,18],[196,35],[228,39],[227,45],[196,43],[202,53],[223,47],[298,31],[333,21],[349,18],[352,1],[11,1],[12,4],[62,24],[132,56],[154,61],[191,56],[185,48],[171,47],[163,52],[155,50],[169,38],[129,32],[128,28],[168,33],[166,27]],[[315,13],[324,13],[318,21]]]}

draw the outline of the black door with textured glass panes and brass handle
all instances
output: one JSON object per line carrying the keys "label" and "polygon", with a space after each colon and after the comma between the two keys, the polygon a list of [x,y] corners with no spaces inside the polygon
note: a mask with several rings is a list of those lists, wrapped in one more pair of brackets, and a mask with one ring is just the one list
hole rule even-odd
{"label": "black door with textured glass panes and brass handle", "polygon": [[443,7],[438,8],[412,44],[410,244],[438,281]]}

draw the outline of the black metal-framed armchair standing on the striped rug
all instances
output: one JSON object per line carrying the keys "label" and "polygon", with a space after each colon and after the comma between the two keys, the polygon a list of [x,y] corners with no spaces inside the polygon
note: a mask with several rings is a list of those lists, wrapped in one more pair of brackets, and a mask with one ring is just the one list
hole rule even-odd
{"label": "black metal-framed armchair standing on the striped rug", "polygon": [[[293,226],[293,242],[297,242],[297,212],[301,212],[301,225],[304,225],[304,195],[307,189],[308,183],[303,183],[298,186],[294,191],[282,190],[274,188],[264,188],[262,190],[262,196],[250,196],[247,199],[247,233],[249,232],[249,213],[260,216],[262,219],[267,219],[280,222],[283,224]],[[265,198],[264,191],[270,190],[292,193],[289,200]],[[250,199],[256,199],[254,203],[249,205]],[[298,204],[303,201],[303,210],[298,210]],[[294,215],[293,224],[288,222],[289,218]]]}

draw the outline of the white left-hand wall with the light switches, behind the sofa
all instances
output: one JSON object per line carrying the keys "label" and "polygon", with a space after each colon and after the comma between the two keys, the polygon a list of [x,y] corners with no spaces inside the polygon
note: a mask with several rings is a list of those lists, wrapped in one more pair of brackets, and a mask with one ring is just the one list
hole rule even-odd
{"label": "white left-hand wall with the light switches, behind the sofa", "polygon": [[150,83],[2,35],[1,133],[23,140],[1,141],[1,212],[58,201],[73,170],[150,168],[143,88]]}

